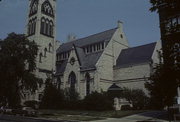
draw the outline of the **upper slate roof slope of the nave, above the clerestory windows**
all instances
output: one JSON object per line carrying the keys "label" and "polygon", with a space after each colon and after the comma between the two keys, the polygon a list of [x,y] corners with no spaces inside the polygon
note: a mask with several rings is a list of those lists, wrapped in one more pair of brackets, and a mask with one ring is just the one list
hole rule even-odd
{"label": "upper slate roof slope of the nave, above the clerestory windows", "polygon": [[60,47],[57,49],[57,53],[62,53],[66,51],[70,51],[73,45],[77,47],[84,47],[86,45],[98,43],[98,42],[103,42],[103,41],[110,41],[112,38],[114,32],[116,31],[117,28],[110,29],[101,33],[97,33],[85,38],[77,39],[75,41],[63,43],[60,45]]}

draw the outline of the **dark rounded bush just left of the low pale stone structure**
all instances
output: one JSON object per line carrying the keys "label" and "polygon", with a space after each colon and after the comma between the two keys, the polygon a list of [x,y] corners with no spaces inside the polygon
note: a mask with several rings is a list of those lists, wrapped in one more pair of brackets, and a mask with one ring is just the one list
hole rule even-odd
{"label": "dark rounded bush just left of the low pale stone structure", "polygon": [[97,91],[87,95],[83,100],[84,109],[86,110],[112,110],[113,103],[108,99],[106,92],[98,93]]}

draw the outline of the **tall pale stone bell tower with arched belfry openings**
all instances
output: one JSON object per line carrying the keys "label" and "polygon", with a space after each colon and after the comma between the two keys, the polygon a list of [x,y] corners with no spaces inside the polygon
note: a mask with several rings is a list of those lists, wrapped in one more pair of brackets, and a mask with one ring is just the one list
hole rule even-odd
{"label": "tall pale stone bell tower with arched belfry openings", "polygon": [[[35,74],[43,81],[55,70],[56,0],[29,0],[26,35],[39,46]],[[29,100],[40,100],[42,88]]]}

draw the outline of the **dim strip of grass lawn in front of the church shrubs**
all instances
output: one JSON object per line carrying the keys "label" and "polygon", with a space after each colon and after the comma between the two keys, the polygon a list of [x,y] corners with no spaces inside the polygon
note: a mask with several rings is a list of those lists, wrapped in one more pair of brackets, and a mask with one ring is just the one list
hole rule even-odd
{"label": "dim strip of grass lawn in front of the church shrubs", "polygon": [[79,120],[92,121],[106,118],[121,118],[145,110],[128,110],[128,111],[79,111],[79,110],[40,110],[39,117],[53,118],[56,120]]}

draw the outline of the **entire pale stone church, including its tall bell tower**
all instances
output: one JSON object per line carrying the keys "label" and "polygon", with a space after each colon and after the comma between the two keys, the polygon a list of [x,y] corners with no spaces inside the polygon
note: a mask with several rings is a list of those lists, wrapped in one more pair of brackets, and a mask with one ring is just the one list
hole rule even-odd
{"label": "entire pale stone church, including its tall bell tower", "polygon": [[[112,86],[143,89],[153,66],[159,62],[161,42],[130,47],[123,23],[90,36],[62,43],[56,41],[56,0],[30,0],[27,20],[28,39],[39,45],[35,74],[44,81],[52,72],[61,89],[79,93],[83,99],[94,91]],[[26,100],[39,101],[44,85]]]}

